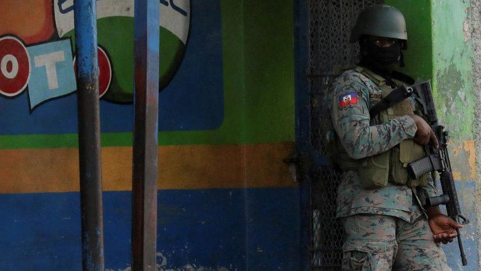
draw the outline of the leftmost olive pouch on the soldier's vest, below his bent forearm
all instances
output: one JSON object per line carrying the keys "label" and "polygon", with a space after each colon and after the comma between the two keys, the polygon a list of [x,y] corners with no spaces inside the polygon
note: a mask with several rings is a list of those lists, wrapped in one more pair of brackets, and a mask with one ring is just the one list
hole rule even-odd
{"label": "leftmost olive pouch on the soldier's vest, below his bent forearm", "polygon": [[385,187],[389,179],[389,156],[391,151],[360,160],[357,174],[364,189]]}

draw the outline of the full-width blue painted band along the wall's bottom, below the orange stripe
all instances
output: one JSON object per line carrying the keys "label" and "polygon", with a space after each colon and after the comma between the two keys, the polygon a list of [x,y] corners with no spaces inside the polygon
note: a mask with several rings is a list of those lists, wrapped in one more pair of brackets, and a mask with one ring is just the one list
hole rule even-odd
{"label": "full-width blue painted band along the wall's bottom, below the orange stripe", "polygon": [[[130,192],[104,192],[105,268],[130,265]],[[1,194],[0,266],[81,270],[78,193]],[[157,263],[207,270],[297,270],[299,188],[158,193]]]}

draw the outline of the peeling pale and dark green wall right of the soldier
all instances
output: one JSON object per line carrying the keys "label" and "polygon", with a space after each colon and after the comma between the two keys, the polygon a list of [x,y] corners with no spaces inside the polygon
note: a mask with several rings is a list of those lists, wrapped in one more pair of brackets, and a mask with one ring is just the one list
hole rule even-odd
{"label": "peeling pale and dark green wall right of the soldier", "polygon": [[[431,78],[441,123],[450,132],[449,151],[463,214],[471,221],[461,233],[469,266],[479,267],[479,117],[477,48],[479,1],[387,0],[401,9],[408,24],[406,72],[416,79]],[[473,22],[475,21],[475,22]],[[456,242],[445,245],[448,263],[460,270]]]}

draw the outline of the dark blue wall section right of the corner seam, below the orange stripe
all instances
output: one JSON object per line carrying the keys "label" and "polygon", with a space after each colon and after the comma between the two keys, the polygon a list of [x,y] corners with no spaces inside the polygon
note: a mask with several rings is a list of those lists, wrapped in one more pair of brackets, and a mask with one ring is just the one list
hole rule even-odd
{"label": "dark blue wall section right of the corner seam, below the orange stripe", "polygon": [[299,270],[298,189],[246,190],[247,270]]}

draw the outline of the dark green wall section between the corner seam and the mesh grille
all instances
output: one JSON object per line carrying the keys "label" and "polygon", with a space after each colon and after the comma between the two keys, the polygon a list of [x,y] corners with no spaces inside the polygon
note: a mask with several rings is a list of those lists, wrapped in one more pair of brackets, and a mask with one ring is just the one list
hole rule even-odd
{"label": "dark green wall section between the corner seam and the mesh grille", "polygon": [[247,143],[294,140],[293,6],[244,0]]}

